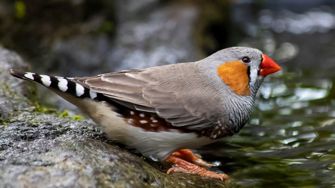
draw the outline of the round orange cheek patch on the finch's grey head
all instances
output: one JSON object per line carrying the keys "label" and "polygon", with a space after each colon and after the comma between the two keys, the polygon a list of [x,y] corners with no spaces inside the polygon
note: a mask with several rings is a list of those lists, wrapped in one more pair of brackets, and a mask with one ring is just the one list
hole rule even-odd
{"label": "round orange cheek patch on the finch's grey head", "polygon": [[226,62],[217,68],[217,74],[238,95],[250,95],[248,66],[240,61]]}

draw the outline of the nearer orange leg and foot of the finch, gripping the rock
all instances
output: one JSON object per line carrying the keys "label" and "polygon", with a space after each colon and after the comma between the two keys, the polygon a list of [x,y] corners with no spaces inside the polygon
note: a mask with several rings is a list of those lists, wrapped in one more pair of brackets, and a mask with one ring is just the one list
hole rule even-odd
{"label": "nearer orange leg and foot of the finch, gripping the rock", "polygon": [[217,178],[217,179],[220,179],[222,181],[223,181],[223,179],[228,179],[229,178],[229,176],[227,176],[225,174],[216,174],[214,172],[207,171],[207,170],[199,167],[198,165],[187,162],[187,161],[185,161],[181,158],[174,157],[172,155],[167,157],[166,160],[179,165],[178,167],[170,168],[167,171],[167,174],[169,174],[172,171],[175,171],[175,172],[183,172],[183,173],[188,173],[188,174],[198,174],[198,175],[204,176],[204,177]]}

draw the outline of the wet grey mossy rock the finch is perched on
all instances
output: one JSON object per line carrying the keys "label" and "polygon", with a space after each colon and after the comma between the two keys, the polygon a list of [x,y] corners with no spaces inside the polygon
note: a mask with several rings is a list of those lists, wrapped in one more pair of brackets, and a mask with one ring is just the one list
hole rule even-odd
{"label": "wet grey mossy rock the finch is perched on", "polygon": [[42,113],[31,82],[11,77],[27,70],[22,59],[0,48],[0,187],[231,187],[230,180],[172,173],[108,142],[92,124]]}

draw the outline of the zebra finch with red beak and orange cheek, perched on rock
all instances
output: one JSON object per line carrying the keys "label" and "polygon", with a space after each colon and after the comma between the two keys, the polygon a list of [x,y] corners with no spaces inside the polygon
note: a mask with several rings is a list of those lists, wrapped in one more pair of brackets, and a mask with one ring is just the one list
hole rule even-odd
{"label": "zebra finch with red beak and orange cheek, perched on rock", "polygon": [[281,68],[260,50],[231,47],[191,63],[92,77],[53,77],[11,70],[79,107],[107,138],[183,172],[228,179],[191,150],[238,133],[264,78]]}

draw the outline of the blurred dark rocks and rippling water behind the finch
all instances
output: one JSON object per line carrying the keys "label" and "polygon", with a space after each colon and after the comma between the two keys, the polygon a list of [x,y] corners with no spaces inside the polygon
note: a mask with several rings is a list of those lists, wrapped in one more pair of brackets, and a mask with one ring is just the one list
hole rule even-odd
{"label": "blurred dark rocks and rippling water behind the finch", "polygon": [[[335,187],[335,1],[0,0],[0,45],[33,72],[95,76],[249,46],[266,78],[245,128],[197,153],[237,187]],[[39,87],[39,103],[77,109]]]}

